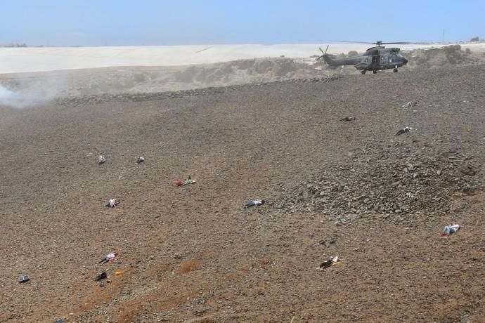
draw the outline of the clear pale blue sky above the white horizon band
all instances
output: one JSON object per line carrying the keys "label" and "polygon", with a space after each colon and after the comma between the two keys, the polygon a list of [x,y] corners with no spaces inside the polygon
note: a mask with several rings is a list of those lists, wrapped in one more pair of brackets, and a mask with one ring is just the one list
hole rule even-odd
{"label": "clear pale blue sky above the white horizon band", "polygon": [[485,1],[5,0],[0,44],[129,46],[485,38]]}

